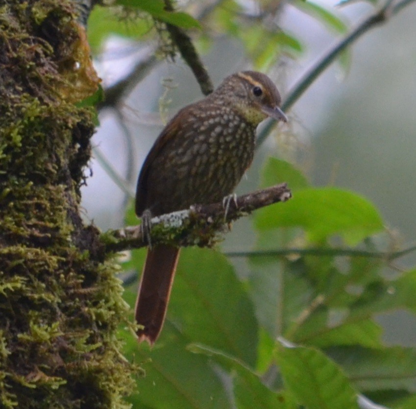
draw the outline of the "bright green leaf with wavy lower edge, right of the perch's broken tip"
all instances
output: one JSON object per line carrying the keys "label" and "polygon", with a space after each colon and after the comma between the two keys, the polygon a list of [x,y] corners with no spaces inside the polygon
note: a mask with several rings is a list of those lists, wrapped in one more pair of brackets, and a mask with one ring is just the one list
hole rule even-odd
{"label": "bright green leaf with wavy lower edge, right of the perch's broken tip", "polygon": [[[276,207],[278,206],[278,208]],[[287,203],[269,206],[256,217],[260,230],[302,227],[311,242],[339,234],[350,245],[383,228],[382,219],[367,199],[337,188],[304,189]]]}

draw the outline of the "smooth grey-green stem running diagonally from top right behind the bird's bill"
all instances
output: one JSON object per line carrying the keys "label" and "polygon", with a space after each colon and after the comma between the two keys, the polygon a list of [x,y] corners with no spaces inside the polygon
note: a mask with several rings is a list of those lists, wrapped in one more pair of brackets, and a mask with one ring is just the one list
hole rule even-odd
{"label": "smooth grey-green stem running diagonally from top right behind the bird's bill", "polygon": [[[378,26],[389,20],[390,17],[397,14],[402,8],[411,4],[415,0],[402,0],[393,4],[393,0],[388,0],[386,4],[373,14],[367,17],[358,27],[352,30],[338,44],[331,48],[319,61],[304,74],[303,78],[293,87],[288,96],[282,103],[282,109],[288,111],[294,103],[306,91],[307,88],[318,78],[318,76],[354,41],[360,38],[370,28]],[[269,136],[271,130],[275,127],[276,121],[269,120],[257,137],[257,148]]]}

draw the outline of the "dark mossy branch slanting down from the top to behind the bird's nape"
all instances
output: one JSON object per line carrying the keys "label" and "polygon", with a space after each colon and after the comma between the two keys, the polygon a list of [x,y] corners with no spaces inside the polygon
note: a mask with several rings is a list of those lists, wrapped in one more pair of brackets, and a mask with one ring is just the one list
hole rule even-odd
{"label": "dark mossy branch slanting down from the top to behind the bird's nape", "polygon": [[[170,0],[165,0],[165,9],[167,11],[173,11],[173,6]],[[191,38],[182,28],[173,26],[172,24],[166,23],[166,27],[171,35],[172,41],[175,43],[178,48],[182,58],[191,68],[192,72],[195,75],[196,81],[201,88],[201,91],[204,95],[210,94],[214,90],[214,86],[211,82],[211,79],[208,75],[208,72],[199,58],[198,53],[194,47],[194,44],[191,41]]]}

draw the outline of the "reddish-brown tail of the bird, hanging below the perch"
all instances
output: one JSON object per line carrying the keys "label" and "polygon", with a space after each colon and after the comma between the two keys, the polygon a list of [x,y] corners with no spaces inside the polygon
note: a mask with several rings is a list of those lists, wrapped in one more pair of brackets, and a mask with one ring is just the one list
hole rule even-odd
{"label": "reddish-brown tail of the bird, hanging below the perch", "polygon": [[162,330],[178,258],[179,248],[171,245],[147,250],[135,308],[136,322],[143,326],[137,331],[139,342],[153,345]]}

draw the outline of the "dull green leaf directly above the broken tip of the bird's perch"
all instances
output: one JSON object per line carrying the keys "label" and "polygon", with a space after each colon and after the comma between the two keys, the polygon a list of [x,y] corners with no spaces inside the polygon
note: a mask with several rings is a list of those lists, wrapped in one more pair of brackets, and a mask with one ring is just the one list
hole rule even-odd
{"label": "dull green leaf directly above the broken tip of the bird's perch", "polygon": [[261,172],[260,187],[267,188],[282,182],[286,182],[292,192],[309,186],[305,176],[293,164],[273,157],[268,158]]}

